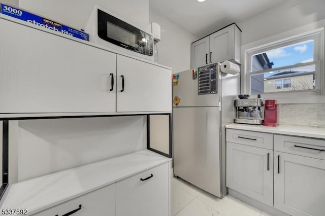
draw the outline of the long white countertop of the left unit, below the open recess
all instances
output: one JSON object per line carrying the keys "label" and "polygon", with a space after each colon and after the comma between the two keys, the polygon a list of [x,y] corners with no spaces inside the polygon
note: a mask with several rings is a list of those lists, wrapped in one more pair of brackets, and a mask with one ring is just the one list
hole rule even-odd
{"label": "long white countertop of the left unit, below the open recess", "polygon": [[56,172],[13,184],[1,208],[27,209],[28,215],[170,161],[149,150]]}

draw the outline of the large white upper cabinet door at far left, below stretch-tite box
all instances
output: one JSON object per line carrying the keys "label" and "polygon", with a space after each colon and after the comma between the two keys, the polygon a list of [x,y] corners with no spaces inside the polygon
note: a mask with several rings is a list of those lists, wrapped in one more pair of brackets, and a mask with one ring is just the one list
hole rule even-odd
{"label": "large white upper cabinet door at far left, below stretch-tite box", "polygon": [[0,26],[0,113],[115,112],[116,54],[4,19]]}

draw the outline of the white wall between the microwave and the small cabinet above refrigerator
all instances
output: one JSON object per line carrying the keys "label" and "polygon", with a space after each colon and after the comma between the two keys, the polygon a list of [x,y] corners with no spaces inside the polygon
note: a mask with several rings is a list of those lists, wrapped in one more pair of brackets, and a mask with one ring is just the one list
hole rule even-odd
{"label": "white wall between the microwave and the small cabinet above refrigerator", "polygon": [[198,38],[152,9],[149,20],[158,23],[161,28],[161,41],[157,44],[158,63],[172,67],[173,73],[189,69],[190,45]]}

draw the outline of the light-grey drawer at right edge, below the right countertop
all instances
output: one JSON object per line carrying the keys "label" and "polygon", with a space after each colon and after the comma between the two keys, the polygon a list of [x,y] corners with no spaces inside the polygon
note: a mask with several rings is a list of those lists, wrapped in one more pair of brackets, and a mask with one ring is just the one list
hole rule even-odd
{"label": "light-grey drawer at right edge, below the right countertop", "polygon": [[274,151],[325,160],[325,140],[274,135]]}

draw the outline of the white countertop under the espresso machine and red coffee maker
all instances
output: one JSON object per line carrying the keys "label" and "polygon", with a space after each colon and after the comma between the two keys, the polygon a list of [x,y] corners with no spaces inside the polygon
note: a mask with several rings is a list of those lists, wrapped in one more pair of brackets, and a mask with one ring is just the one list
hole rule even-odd
{"label": "white countertop under the espresso machine and red coffee maker", "polygon": [[305,136],[311,138],[325,139],[325,128],[321,127],[308,127],[308,126],[295,126],[295,125],[279,125],[276,127],[263,126],[263,125],[248,125],[248,124],[229,124],[226,128],[249,130],[255,132],[276,133],[284,135]]}

